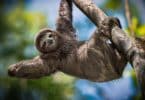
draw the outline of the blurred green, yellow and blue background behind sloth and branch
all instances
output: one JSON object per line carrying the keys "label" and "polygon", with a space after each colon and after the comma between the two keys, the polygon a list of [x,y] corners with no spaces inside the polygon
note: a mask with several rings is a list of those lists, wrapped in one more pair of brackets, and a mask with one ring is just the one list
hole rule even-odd
{"label": "blurred green, yellow and blue background behind sloth and branch", "polygon": [[[121,79],[97,83],[61,72],[37,80],[11,78],[7,67],[38,55],[34,38],[38,30],[54,28],[60,0],[2,0],[0,3],[0,100],[132,100],[140,98],[130,64]],[[109,16],[120,19],[129,33],[124,0],[94,0]],[[132,29],[145,36],[145,1],[130,0]],[[55,12],[55,13],[54,13]],[[74,26],[80,40],[87,40],[94,24],[74,7]],[[85,28],[84,28],[85,27]],[[118,66],[119,67],[119,66]]]}

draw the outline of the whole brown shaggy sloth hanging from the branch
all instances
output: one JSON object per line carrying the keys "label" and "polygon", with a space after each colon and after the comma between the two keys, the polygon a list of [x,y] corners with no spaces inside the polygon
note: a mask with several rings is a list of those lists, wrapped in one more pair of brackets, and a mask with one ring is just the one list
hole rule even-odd
{"label": "whole brown shaggy sloth hanging from the branch", "polygon": [[[105,22],[120,26],[116,18]],[[126,59],[112,43],[107,42],[102,32],[100,27],[88,41],[78,41],[72,25],[72,2],[61,0],[56,30],[45,28],[37,33],[35,45],[40,55],[10,65],[8,74],[33,79],[62,71],[96,82],[120,78]]]}

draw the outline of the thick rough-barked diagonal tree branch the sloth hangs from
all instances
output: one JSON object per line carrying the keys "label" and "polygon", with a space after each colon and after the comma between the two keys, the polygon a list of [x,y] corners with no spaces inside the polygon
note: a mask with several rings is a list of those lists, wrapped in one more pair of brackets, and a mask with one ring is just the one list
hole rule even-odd
{"label": "thick rough-barked diagonal tree branch the sloth hangs from", "polygon": [[[92,0],[72,0],[82,12],[84,12],[94,24],[99,26],[107,16],[99,9]],[[130,38],[126,33],[115,26],[111,30],[111,41],[122,52],[135,69],[138,82],[145,98],[145,53],[140,42]]]}

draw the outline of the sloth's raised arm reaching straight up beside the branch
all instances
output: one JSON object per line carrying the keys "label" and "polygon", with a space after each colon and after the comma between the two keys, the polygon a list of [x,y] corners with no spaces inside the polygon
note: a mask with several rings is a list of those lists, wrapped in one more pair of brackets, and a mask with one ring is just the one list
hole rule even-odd
{"label": "sloth's raised arm reaching straight up beside the branch", "polygon": [[72,25],[72,1],[61,0],[59,14],[56,23],[56,30],[61,34],[66,34],[72,37],[75,36],[75,29]]}

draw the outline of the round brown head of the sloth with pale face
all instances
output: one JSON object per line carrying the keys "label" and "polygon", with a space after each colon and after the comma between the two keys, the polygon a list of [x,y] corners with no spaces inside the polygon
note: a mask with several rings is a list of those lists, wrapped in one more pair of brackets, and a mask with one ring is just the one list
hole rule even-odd
{"label": "round brown head of the sloth with pale face", "polygon": [[57,32],[50,29],[42,29],[36,36],[35,45],[41,53],[49,53],[58,48],[59,35]]}

